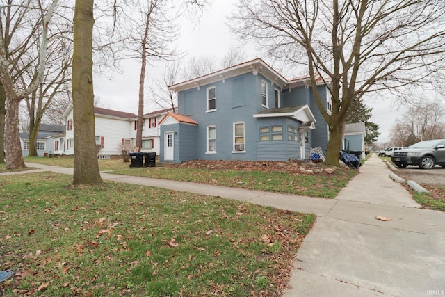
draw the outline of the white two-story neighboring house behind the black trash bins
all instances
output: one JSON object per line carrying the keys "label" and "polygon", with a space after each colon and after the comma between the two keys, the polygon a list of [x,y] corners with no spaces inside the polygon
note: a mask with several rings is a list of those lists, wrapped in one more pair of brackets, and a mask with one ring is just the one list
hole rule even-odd
{"label": "white two-story neighboring house behind the black trash bins", "polygon": [[[162,116],[172,109],[163,109],[144,115],[142,152],[156,152],[159,155],[159,127]],[[74,154],[74,121],[72,104],[68,106],[63,118],[66,120],[65,154]],[[95,136],[99,155],[122,154],[122,147],[132,151],[136,144],[138,116],[134,113],[114,111],[95,107]]]}

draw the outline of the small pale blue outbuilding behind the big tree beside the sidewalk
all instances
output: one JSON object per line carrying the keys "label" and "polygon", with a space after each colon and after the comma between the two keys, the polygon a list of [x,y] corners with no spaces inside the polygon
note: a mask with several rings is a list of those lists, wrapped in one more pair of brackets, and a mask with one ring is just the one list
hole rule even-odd
{"label": "small pale blue outbuilding behind the big tree beside the sidewalk", "polygon": [[355,154],[360,159],[365,157],[365,143],[366,129],[364,122],[353,122],[345,125],[343,134],[342,150],[349,151]]}

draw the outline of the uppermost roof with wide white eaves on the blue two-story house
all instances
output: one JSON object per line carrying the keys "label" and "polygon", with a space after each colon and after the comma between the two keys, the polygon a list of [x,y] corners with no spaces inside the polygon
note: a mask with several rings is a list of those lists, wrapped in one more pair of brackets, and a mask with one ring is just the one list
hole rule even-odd
{"label": "uppermost roof with wide white eaves on the blue two-story house", "polygon": [[[212,72],[210,74],[203,75],[202,77],[197,77],[195,79],[190,79],[188,81],[183,81],[181,83],[175,83],[172,86],[168,86],[169,90],[174,90],[175,92],[180,92],[181,90],[189,90],[191,88],[200,88],[200,86],[207,85],[209,83],[215,83],[216,81],[225,81],[230,77],[237,77],[238,75],[253,72],[254,75],[261,73],[264,77],[269,79],[271,82],[275,83],[280,88],[293,88],[296,86],[303,86],[310,84],[309,77],[298,77],[296,79],[288,80],[282,76],[282,74],[275,71],[261,58],[255,58],[254,60],[247,61],[232,67],[227,67],[223,70],[217,72]],[[323,85],[324,81],[321,78],[317,79],[317,83]]]}

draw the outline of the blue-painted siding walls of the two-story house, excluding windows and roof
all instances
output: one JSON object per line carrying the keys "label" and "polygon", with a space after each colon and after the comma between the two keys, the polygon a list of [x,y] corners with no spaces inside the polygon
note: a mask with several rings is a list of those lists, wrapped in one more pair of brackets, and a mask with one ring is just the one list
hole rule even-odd
{"label": "blue-painted siding walls of the two-story house, excluding windows and roof", "polygon": [[[300,138],[289,141],[287,125],[300,127],[300,122],[291,118],[254,118],[253,115],[266,108],[262,106],[261,81],[267,85],[268,108],[275,108],[275,89],[278,86],[270,83],[261,74],[252,72],[237,77],[222,79],[215,83],[200,86],[178,94],[178,113],[188,115],[198,122],[198,126],[187,125],[177,127],[179,145],[175,141],[175,161],[191,159],[204,160],[280,160],[300,159]],[[216,91],[216,110],[207,111],[207,88]],[[319,87],[321,97],[325,100],[326,89]],[[280,107],[307,104],[316,118],[316,130],[309,131],[309,142],[305,143],[305,156],[309,157],[311,147],[321,146],[326,151],[328,131],[327,125],[312,95],[311,88],[304,86],[292,90],[280,91]],[[234,153],[234,122],[244,122],[245,152]],[[216,153],[208,154],[207,127],[216,127]],[[262,125],[282,125],[281,141],[260,141],[259,127]],[[161,127],[161,154],[163,154],[163,131],[171,131],[173,127]],[[190,125],[188,125],[190,126]],[[175,128],[176,129],[176,128]],[[175,130],[176,131],[176,130]],[[298,134],[299,136],[299,134]],[[177,150],[179,150],[177,152]]]}

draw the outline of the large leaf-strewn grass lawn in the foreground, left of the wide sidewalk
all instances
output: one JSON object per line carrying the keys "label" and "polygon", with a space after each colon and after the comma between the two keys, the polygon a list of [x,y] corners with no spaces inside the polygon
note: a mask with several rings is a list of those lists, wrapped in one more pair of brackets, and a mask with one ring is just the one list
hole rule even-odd
{"label": "large leaf-strewn grass lawn in the foreground, left of the wide sidewalk", "polygon": [[4,296],[274,296],[315,216],[51,172],[0,176]]}

